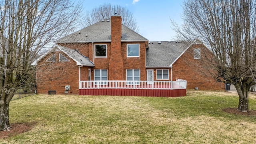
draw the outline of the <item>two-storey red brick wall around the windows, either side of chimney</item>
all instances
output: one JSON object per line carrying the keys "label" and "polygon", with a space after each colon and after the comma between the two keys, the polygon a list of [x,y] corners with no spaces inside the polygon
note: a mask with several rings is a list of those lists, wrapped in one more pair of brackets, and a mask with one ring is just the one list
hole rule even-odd
{"label": "two-storey red brick wall around the windows, either side of chimney", "polygon": [[[106,44],[107,45],[107,58],[93,58],[92,57],[92,47],[96,44]],[[140,57],[138,58],[127,58],[127,44],[140,44]],[[116,68],[117,64],[110,63],[110,57],[112,56],[111,52],[111,42],[95,42],[95,43],[77,43],[77,44],[60,44],[62,46],[66,46],[68,48],[74,48],[78,50],[84,56],[88,56],[91,61],[94,62],[95,67],[92,67],[91,70],[94,69],[107,69],[108,70],[108,80],[110,80],[110,70],[109,66]],[[93,49],[94,50],[94,49]],[[126,80],[126,69],[140,69],[140,80],[146,80],[146,44],[145,42],[121,42],[121,50],[120,53],[113,54],[115,58],[122,58],[123,68],[122,68],[122,79]],[[88,68],[86,69],[86,73],[88,73]],[[86,79],[87,80],[87,79]],[[91,73],[91,80],[94,80],[94,72]]]}

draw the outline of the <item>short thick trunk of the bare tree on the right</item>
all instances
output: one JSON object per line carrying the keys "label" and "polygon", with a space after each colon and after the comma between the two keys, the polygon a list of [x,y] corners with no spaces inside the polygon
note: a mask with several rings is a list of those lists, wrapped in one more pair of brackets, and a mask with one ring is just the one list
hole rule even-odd
{"label": "short thick trunk of the bare tree on the right", "polygon": [[240,112],[248,112],[249,89],[247,87],[248,86],[243,86],[243,88],[240,88],[240,87],[236,88],[238,96],[239,96],[238,110]]}

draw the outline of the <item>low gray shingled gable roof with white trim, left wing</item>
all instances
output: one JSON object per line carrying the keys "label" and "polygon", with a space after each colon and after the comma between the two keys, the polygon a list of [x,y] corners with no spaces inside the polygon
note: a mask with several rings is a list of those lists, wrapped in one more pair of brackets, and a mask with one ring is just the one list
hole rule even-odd
{"label": "low gray shingled gable roof with white trim, left wing", "polygon": [[84,65],[84,66],[91,66],[94,67],[94,64],[89,60],[88,57],[82,55],[80,52],[78,52],[77,50],[74,49],[70,49],[64,46],[53,46],[50,50],[48,50],[48,52],[46,52],[44,55],[40,56],[40,58],[38,58],[37,60],[35,60],[32,65],[36,66],[37,63],[44,58],[44,56],[46,56],[49,52],[53,52],[53,51],[58,51],[61,50],[62,52],[64,52],[66,55],[68,55],[70,58],[72,58],[75,62],[76,65]]}

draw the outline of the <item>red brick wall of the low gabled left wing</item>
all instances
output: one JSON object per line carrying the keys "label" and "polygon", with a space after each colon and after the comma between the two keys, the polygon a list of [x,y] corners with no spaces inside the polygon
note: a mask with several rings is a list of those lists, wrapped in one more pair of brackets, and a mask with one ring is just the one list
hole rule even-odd
{"label": "red brick wall of the low gabled left wing", "polygon": [[[56,94],[65,94],[65,86],[70,85],[68,94],[79,94],[79,67],[63,52],[55,53],[56,62],[46,62],[49,55],[38,62],[37,93],[48,94],[48,91],[56,91]],[[59,53],[70,61],[58,62]],[[81,80],[88,80],[88,67],[81,68]]]}

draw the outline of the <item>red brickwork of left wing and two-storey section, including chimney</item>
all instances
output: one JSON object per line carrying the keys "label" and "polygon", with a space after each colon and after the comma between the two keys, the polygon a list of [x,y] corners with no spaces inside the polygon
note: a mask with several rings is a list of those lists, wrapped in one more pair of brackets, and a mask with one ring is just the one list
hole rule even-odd
{"label": "red brickwork of left wing and two-storey section, including chimney", "polygon": [[[90,68],[91,80],[94,80],[95,69],[107,69],[108,80],[126,80],[126,69],[140,69],[140,80],[146,80],[146,44],[148,42],[121,42],[122,18],[112,16],[111,42],[94,43],[72,43],[59,44],[68,48],[76,49],[89,60],[94,62],[95,67]],[[95,45],[107,45],[107,57],[95,58]],[[139,44],[140,56],[138,58],[127,58],[127,44]],[[58,57],[56,52],[56,56]],[[65,86],[70,85],[68,94],[78,94],[79,92],[79,67],[76,62],[61,52],[70,62],[45,62],[49,56],[45,56],[38,62],[37,86],[38,94],[48,94],[49,90],[56,91],[56,94],[64,94]],[[88,80],[88,68],[80,68],[80,80]]]}

